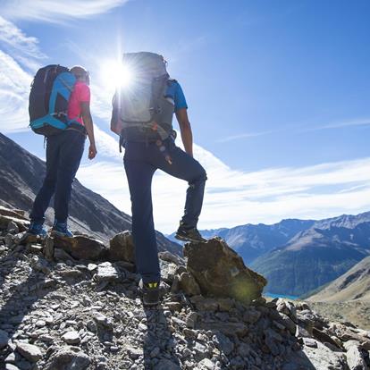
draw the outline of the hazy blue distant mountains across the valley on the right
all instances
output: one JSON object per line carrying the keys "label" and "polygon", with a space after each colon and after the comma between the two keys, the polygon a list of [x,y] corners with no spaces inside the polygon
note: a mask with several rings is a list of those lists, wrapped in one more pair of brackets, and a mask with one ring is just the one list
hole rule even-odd
{"label": "hazy blue distant mountains across the valley on the right", "polygon": [[[201,231],[219,236],[268,280],[265,291],[300,296],[332,282],[370,254],[370,213],[287,219]],[[170,239],[173,235],[170,236]]]}

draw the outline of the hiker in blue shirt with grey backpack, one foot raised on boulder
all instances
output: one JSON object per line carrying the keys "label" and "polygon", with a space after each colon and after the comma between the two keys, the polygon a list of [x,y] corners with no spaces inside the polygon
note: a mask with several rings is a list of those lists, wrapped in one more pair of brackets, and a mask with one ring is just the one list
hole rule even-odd
{"label": "hiker in blue shirt with grey backpack, one foot raised on boulder", "polygon": [[[133,72],[132,83],[119,88],[113,100],[111,130],[125,147],[124,168],[130,188],[132,236],[139,287],[145,305],[159,303],[160,267],[153,222],[151,184],[161,169],[188,181],[185,213],[176,238],[205,241],[197,229],[206,183],[206,171],[193,158],[192,131],[180,84],[169,78],[162,55],[140,52],[123,55]],[[176,114],[185,152],[175,145],[172,115]]]}

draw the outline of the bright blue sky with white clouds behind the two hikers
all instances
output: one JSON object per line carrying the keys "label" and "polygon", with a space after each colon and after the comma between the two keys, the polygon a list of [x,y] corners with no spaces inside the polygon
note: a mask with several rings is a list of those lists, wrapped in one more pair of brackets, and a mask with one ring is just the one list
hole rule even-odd
{"label": "bright blue sky with white clouds behind the two hikers", "polygon": [[[47,63],[85,65],[99,154],[77,177],[130,213],[103,71],[154,51],[184,89],[208,172],[200,228],[370,210],[369,15],[366,0],[4,0],[0,130],[45,156],[27,129],[29,81]],[[156,175],[159,230],[175,229],[185,189]]]}

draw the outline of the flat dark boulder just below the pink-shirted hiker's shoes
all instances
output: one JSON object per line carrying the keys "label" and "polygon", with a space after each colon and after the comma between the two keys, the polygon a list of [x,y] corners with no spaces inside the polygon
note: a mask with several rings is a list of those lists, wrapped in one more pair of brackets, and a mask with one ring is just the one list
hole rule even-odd
{"label": "flat dark boulder just below the pink-shirted hiker's shoes", "polygon": [[61,248],[73,258],[86,260],[105,259],[107,248],[102,241],[84,235],[71,238],[54,236],[54,248]]}

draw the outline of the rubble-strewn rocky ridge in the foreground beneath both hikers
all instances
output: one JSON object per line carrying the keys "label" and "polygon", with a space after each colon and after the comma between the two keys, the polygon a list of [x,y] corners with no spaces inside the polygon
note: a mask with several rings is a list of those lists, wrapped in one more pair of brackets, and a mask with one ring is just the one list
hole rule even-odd
{"label": "rubble-strewn rocky ridge in the foreground beneath both hikers", "polygon": [[216,281],[223,260],[229,286],[241,273],[253,287],[248,299],[228,297],[226,283],[221,292],[208,289],[189,244],[187,260],[160,253],[163,303],[148,309],[139,299],[130,233],[109,246],[87,236],[40,240],[22,231],[27,220],[19,211],[9,211],[0,223],[0,368],[354,370],[370,364],[370,332],[330,322],[305,302],[266,302],[265,279],[238,265],[223,240],[198,245],[215,259],[205,265],[208,281]]}

